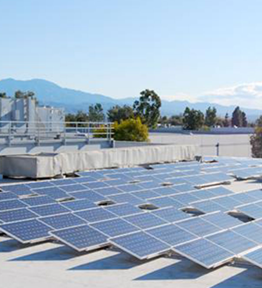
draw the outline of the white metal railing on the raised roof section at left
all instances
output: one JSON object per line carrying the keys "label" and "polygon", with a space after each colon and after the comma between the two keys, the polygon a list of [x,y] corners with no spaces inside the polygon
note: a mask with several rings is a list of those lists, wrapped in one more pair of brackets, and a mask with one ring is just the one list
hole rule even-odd
{"label": "white metal railing on the raised roof section at left", "polygon": [[104,138],[111,140],[114,135],[111,122],[43,122],[43,121],[0,121],[0,142],[7,144],[31,141],[72,142],[84,139]]}

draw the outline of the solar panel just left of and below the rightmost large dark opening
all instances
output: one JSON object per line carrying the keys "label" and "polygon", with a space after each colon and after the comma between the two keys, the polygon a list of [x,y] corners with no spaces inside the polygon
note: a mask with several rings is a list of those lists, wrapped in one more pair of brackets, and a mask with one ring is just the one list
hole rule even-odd
{"label": "solar panel just left of and below the rightmost large dark opening", "polygon": [[243,222],[238,220],[235,217],[229,216],[227,214],[224,214],[222,212],[215,212],[211,214],[206,214],[201,216],[203,219],[205,219],[208,222],[211,222],[212,224],[221,227],[223,229],[228,229],[231,227],[238,226],[242,224]]}

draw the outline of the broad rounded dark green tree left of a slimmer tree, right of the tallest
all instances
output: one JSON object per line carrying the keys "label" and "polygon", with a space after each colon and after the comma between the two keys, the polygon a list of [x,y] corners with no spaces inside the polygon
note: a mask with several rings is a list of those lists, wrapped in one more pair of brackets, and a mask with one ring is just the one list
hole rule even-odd
{"label": "broad rounded dark green tree left of a slimmer tree, right of the tallest", "polygon": [[204,114],[200,110],[185,108],[183,126],[186,130],[198,130],[205,123]]}

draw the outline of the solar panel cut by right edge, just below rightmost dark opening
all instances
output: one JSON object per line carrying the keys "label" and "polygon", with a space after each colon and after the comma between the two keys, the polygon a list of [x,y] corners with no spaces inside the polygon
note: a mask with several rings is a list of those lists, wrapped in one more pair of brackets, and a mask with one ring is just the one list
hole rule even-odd
{"label": "solar panel cut by right edge, just below rightmost dark opening", "polygon": [[258,244],[262,243],[262,227],[255,223],[248,222],[232,229],[234,232],[250,239]]}

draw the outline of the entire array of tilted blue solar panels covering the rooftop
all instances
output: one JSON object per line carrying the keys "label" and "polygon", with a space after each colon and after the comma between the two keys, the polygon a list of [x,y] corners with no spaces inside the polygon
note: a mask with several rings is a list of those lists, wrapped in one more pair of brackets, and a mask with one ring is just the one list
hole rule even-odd
{"label": "entire array of tilted blue solar panels covering the rooftop", "polygon": [[[0,230],[22,243],[55,237],[77,251],[111,244],[139,259],[175,251],[206,268],[244,254],[259,262],[250,251],[262,244],[262,190],[233,193],[219,184],[261,165],[219,158],[3,185]],[[232,210],[255,220],[243,224]]]}

